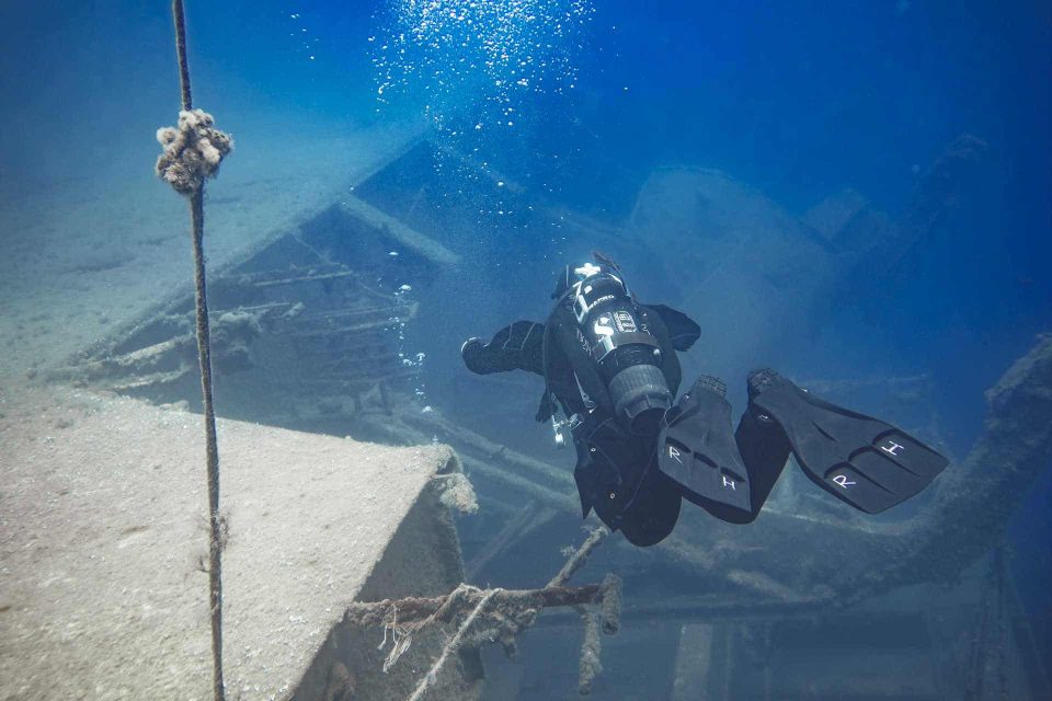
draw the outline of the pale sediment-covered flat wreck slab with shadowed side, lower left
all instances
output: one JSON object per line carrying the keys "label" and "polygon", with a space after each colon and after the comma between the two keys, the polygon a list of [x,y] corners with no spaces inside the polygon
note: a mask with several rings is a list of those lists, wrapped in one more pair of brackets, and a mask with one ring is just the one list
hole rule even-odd
{"label": "pale sediment-covered flat wreck slab with shadowed side, lower left", "polygon": [[[209,696],[199,416],[56,387],[5,399],[0,690],[24,699]],[[379,641],[344,635],[343,611],[389,591],[437,596],[464,579],[435,490],[456,466],[448,448],[226,420],[218,434],[229,692],[321,699],[340,683],[389,682],[373,666]],[[422,636],[414,654],[435,655],[442,642]],[[476,698],[478,670],[455,673],[460,696],[451,698]]]}

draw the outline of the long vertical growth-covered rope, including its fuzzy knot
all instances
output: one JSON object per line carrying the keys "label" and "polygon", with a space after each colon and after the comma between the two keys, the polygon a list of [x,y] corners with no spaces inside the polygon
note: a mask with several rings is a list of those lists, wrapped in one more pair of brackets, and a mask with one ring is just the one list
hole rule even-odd
{"label": "long vertical growth-covered rope, including its fuzzy knot", "polygon": [[222,568],[226,521],[219,515],[219,448],[216,440],[216,414],[211,393],[211,344],[208,334],[208,297],[205,289],[205,179],[215,176],[222,158],[233,143],[230,137],[213,128],[211,115],[194,110],[186,62],[186,22],[182,0],[172,0],[175,21],[175,56],[182,112],[179,127],[158,130],[164,152],[157,160],[157,174],[175,192],[190,197],[190,218],[194,250],[194,297],[197,321],[197,360],[201,365],[201,392],[205,414],[205,453],[208,469],[208,602],[211,611],[213,693],[225,698],[222,682]]}

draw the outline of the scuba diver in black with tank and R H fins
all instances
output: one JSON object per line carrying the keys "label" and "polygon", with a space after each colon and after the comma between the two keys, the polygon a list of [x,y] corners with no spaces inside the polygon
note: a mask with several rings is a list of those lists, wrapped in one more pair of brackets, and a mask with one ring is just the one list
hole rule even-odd
{"label": "scuba diver in black with tank and R H fins", "polygon": [[[640,302],[614,261],[567,266],[545,323],[516,321],[460,348],[472,372],[526,370],[545,380],[537,421],[569,432],[586,517],[594,509],[636,545],[672,532],[683,498],[732,524],[752,522],[792,452],[815,484],[868,514],[926,487],[947,460],[881,421],[824,402],[778,372],[754,370],[737,430],[722,381],[701,376],[676,401],[677,353],[700,327]],[[561,410],[563,418],[557,420]]]}

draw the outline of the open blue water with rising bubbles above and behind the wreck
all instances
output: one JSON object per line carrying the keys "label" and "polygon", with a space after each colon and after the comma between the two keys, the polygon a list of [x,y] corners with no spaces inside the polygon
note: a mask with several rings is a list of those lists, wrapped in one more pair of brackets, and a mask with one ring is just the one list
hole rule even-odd
{"label": "open blue water with rising bubbles above and behind the wreck", "polygon": [[[191,2],[187,30],[196,102],[236,137],[418,120],[433,143],[483,164],[467,172],[441,153],[422,163],[441,183],[431,206],[476,212],[470,231],[436,225],[435,235],[466,258],[458,299],[485,301],[470,317],[444,308],[448,315],[410,330],[430,358],[430,399],[451,414],[477,417],[498,399],[464,384],[464,337],[542,315],[562,264],[592,249],[621,253],[611,241],[564,240],[559,222],[531,207],[624,226],[663,166],[721,171],[793,216],[849,187],[896,219],[954,138],[985,141],[956,214],[910,251],[905,274],[858,280],[807,320],[805,346],[743,359],[809,378],[929,376],[938,438],[957,457],[980,435],[983,391],[1052,331],[1049,2],[431,4],[428,19],[428,3],[395,0]],[[151,135],[176,107],[167,9],[0,7],[4,186],[150,162]],[[439,16],[450,10],[459,16]],[[481,187],[480,172],[524,191]],[[671,289],[632,255],[619,262],[637,289]],[[740,378],[729,383],[740,391]],[[479,393],[465,397],[464,387]],[[530,388],[524,406],[535,402]],[[529,439],[541,436],[528,412],[522,420]],[[516,439],[513,426],[501,430]],[[1045,659],[1050,496],[1045,471],[1009,531]],[[572,668],[575,657],[562,663]]]}

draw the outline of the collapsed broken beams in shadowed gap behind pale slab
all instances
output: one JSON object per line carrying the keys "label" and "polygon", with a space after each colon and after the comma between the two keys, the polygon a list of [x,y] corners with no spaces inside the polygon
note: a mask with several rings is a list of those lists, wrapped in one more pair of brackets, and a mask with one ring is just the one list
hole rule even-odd
{"label": "collapsed broken beams in shadowed gap behind pale slab", "polygon": [[[368,242],[361,229],[369,222],[346,217],[340,209],[327,210],[318,216],[322,221],[304,225],[305,232],[272,241],[254,258],[209,280],[213,365],[228,415],[250,417],[263,391],[284,395],[279,411],[308,418],[353,415],[373,406],[390,411],[389,390],[414,377],[416,370],[398,354],[398,336],[400,325],[419,313],[419,302],[376,280],[408,276],[426,281],[436,264],[407,253],[389,269],[352,268],[350,252],[324,249],[312,238],[316,229],[335,219],[354,228],[361,245],[395,244],[384,241],[378,229],[373,235],[381,240]],[[117,389],[157,403],[192,397],[192,329],[191,300],[176,299],[136,323],[128,335],[96,344],[53,370],[49,379]],[[251,417],[259,420],[258,414]]]}

